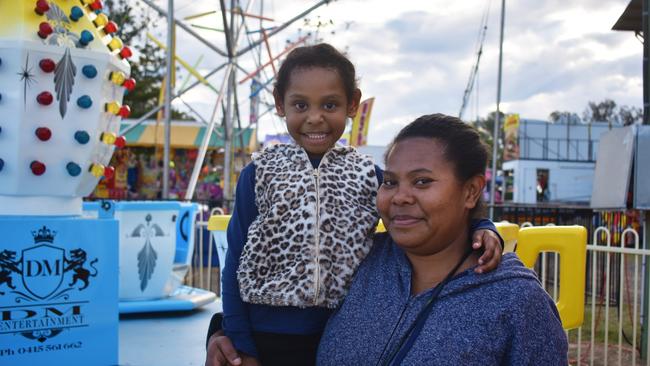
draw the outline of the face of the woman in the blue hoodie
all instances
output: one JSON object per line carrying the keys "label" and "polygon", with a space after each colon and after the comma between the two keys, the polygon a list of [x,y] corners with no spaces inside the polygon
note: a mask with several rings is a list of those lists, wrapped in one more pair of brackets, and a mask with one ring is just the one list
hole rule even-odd
{"label": "face of the woman in the blue hoodie", "polygon": [[377,208],[397,244],[416,255],[435,254],[467,241],[469,210],[484,184],[477,176],[461,182],[437,139],[408,138],[390,151]]}

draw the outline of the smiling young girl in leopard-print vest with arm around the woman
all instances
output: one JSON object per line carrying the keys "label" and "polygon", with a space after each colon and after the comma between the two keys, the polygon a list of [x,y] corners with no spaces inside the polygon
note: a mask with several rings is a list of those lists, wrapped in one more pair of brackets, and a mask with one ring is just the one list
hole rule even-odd
{"label": "smiling young girl in leopard-print vest with arm around the woman", "polygon": [[[381,170],[336,145],[361,99],[352,63],[327,44],[300,47],[276,80],[277,113],[295,144],[254,154],[237,183],[222,279],[223,330],[241,356],[236,364],[315,363],[325,323],[378,221]],[[479,223],[475,231],[494,229]],[[482,230],[477,241],[486,247],[481,270],[495,268],[498,236]],[[215,348],[208,365],[223,360]]]}

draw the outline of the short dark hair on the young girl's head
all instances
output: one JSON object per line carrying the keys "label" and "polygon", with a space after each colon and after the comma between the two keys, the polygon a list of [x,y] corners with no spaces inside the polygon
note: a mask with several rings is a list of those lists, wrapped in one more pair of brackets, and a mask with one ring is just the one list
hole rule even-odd
{"label": "short dark hair on the young girl's head", "polygon": [[278,70],[273,94],[280,100],[284,100],[291,73],[296,69],[311,67],[336,70],[343,81],[343,88],[345,88],[348,102],[352,101],[354,89],[357,87],[354,65],[341,52],[327,43],[298,47],[289,52],[287,58],[282,62],[280,70]]}

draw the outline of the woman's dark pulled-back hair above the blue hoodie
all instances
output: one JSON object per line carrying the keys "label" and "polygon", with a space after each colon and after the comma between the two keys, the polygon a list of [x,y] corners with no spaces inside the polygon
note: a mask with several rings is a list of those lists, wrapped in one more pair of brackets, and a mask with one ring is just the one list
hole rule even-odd
{"label": "woman's dark pulled-back hair above the blue hoodie", "polygon": [[[445,146],[444,156],[454,166],[456,177],[466,182],[478,174],[485,174],[488,148],[476,128],[460,119],[444,114],[424,115],[409,123],[395,136],[388,146],[384,160],[398,142],[409,138],[436,139]],[[470,218],[485,217],[482,195],[470,211]]]}

